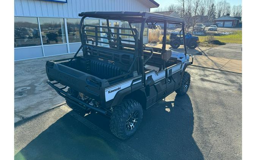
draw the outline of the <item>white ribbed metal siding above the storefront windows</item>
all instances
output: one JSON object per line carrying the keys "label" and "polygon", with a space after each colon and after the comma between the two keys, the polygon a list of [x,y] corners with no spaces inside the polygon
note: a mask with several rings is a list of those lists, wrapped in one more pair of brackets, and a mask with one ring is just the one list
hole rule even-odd
{"label": "white ribbed metal siding above the storefront windows", "polygon": [[145,0],[68,0],[68,3],[44,0],[14,0],[15,16],[79,18],[85,11],[150,11]]}

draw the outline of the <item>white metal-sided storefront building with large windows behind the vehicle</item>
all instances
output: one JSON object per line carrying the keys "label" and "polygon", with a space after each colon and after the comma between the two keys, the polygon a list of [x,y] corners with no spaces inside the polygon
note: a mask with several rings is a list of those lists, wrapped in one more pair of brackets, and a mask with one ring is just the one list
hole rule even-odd
{"label": "white metal-sided storefront building with large windows behind the vehicle", "polygon": [[[81,12],[149,12],[158,6],[154,0],[14,0],[14,60],[76,52],[81,45]],[[84,23],[106,25],[106,20],[85,19]],[[110,20],[110,25],[124,27],[127,23]],[[147,32],[143,41],[148,41]]]}

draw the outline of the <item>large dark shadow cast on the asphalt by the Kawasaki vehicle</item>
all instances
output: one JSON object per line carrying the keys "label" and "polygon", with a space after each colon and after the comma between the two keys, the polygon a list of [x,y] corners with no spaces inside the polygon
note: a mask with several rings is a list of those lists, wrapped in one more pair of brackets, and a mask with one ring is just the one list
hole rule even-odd
{"label": "large dark shadow cast on the asphalt by the Kawasaki vehicle", "polygon": [[[100,135],[101,131],[87,127],[70,113],[39,134],[14,159],[134,159],[130,155],[134,152],[124,151],[124,147],[114,144],[115,141],[150,159],[203,159],[192,137],[193,108],[187,94],[176,95],[174,101],[162,100],[144,110],[140,128],[128,140],[119,140],[112,135],[109,118],[105,116],[91,113],[84,119],[97,125],[98,130],[107,132],[108,136]],[[109,140],[110,137],[113,140]]]}

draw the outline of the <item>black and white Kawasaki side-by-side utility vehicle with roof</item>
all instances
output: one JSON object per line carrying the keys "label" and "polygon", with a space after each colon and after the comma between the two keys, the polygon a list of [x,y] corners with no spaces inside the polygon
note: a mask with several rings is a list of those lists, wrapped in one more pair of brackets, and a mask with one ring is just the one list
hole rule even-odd
{"label": "black and white Kawasaki side-by-side utility vehicle with roof", "polygon": [[[46,63],[47,83],[74,111],[109,116],[112,133],[127,139],[138,129],[143,109],[174,91],[181,95],[188,91],[190,75],[185,69],[193,58],[190,61],[186,48],[184,53],[166,49],[167,24],[182,25],[185,37],[183,19],[149,12],[83,12],[79,16],[82,45],[77,53]],[[87,25],[86,17],[106,23]],[[111,27],[110,20],[124,21],[126,27]],[[143,42],[145,25],[157,23],[164,24],[161,49]],[[183,43],[186,46],[185,39]],[[77,56],[81,49],[83,55]]]}

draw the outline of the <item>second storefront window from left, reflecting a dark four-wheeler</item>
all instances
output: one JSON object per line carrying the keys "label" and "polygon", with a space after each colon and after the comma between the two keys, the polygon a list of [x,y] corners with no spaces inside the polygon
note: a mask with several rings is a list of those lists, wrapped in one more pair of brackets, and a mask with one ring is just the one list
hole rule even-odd
{"label": "second storefront window from left, reflecting a dark four-wheeler", "polygon": [[39,18],[44,45],[66,43],[63,18]]}

